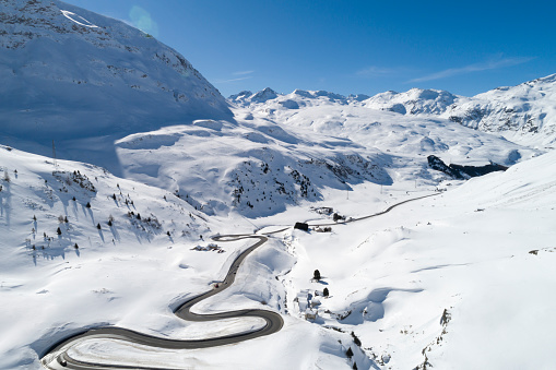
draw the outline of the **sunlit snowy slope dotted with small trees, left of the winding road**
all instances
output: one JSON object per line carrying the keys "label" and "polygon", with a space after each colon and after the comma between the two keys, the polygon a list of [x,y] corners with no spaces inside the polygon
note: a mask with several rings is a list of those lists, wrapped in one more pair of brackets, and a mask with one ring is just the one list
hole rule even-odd
{"label": "sunlit snowy slope dotted with small trees, left of the winding road", "polygon": [[1,146],[0,168],[0,369],[39,369],[54,342],[92,325],[213,331],[176,321],[171,305],[225,274],[241,243],[222,246],[225,253],[190,249],[237,222],[209,219],[164,190],[82,163],[55,166]]}

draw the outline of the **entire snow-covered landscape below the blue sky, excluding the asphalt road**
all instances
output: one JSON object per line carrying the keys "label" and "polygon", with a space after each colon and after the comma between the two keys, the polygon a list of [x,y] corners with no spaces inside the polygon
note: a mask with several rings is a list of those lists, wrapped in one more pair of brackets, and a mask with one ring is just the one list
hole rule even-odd
{"label": "entire snow-covered landscape below the blue sky, excluding the asphalt road", "polygon": [[[0,20],[0,369],[71,368],[40,360],[100,326],[201,342],[264,326],[175,314],[213,289],[193,312],[267,310],[283,326],[66,354],[85,368],[554,367],[554,75],[475,97],[225,99],[120,21],[57,0],[4,0]],[[461,180],[429,156],[509,168]],[[255,240],[212,239],[227,235],[268,241],[224,289]]]}

